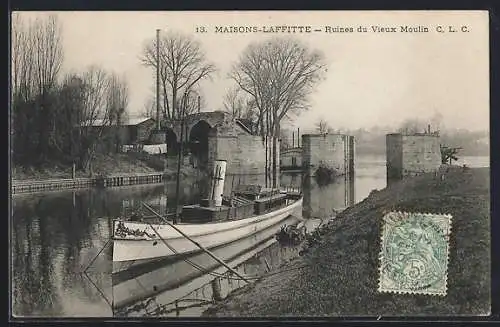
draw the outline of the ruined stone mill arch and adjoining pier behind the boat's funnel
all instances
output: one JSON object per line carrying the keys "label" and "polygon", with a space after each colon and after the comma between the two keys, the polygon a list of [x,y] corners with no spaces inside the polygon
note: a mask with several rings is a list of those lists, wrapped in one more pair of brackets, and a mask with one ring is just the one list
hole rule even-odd
{"label": "ruined stone mill arch and adjoining pier behind the boat's funnel", "polygon": [[[268,186],[271,186],[273,157],[271,138],[267,140],[266,151],[266,141],[262,136],[252,134],[242,122],[220,111],[190,115],[186,118],[184,128],[183,141],[192,157],[196,158],[197,165],[206,166],[207,171],[210,172],[215,160],[227,161],[225,195],[229,195],[231,188],[240,183],[264,186],[266,167]],[[180,140],[180,124],[172,122],[167,129],[168,134],[171,135],[170,143],[177,143]],[[279,147],[279,140],[277,140],[277,187],[280,175]]]}

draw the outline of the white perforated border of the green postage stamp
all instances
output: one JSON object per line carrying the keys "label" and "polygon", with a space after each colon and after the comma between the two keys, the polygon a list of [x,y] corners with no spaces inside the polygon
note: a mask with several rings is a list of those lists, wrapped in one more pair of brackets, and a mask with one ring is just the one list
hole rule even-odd
{"label": "white perforated border of the green postage stamp", "polygon": [[[445,239],[446,239],[446,274],[444,276],[444,291],[443,292],[432,292],[432,291],[425,291],[425,290],[419,290],[419,291],[410,291],[410,290],[388,290],[382,288],[382,264],[383,264],[383,259],[384,259],[384,251],[382,248],[382,245],[384,244],[384,236],[386,233],[387,229],[387,224],[388,224],[388,217],[390,215],[396,215],[399,217],[402,217],[402,219],[408,218],[409,215],[423,215],[423,216],[441,216],[445,217],[448,219],[448,224],[447,224],[447,229],[445,231]],[[444,213],[421,213],[421,212],[406,212],[406,211],[390,211],[386,212],[382,216],[382,228],[380,230],[381,236],[380,236],[380,252],[379,252],[379,267],[378,267],[378,292],[379,293],[391,293],[391,294],[414,294],[414,295],[431,295],[431,296],[446,296],[448,293],[448,269],[449,269],[449,263],[450,263],[450,235],[451,235],[451,230],[452,230],[452,224],[453,224],[453,216],[450,214],[444,214]]]}

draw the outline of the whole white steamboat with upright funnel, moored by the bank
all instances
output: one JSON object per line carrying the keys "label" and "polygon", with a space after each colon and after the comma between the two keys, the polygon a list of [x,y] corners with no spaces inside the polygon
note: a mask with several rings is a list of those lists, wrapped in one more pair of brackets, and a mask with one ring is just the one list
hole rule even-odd
{"label": "whole white steamboat with upright funnel, moored by the bank", "polygon": [[257,185],[237,187],[231,200],[224,203],[225,161],[216,161],[215,171],[209,196],[212,200],[184,206],[183,222],[175,224],[175,228],[166,223],[115,220],[113,273],[152,260],[203,251],[194,242],[210,250],[258,233],[290,215],[302,217],[301,194],[263,189]]}

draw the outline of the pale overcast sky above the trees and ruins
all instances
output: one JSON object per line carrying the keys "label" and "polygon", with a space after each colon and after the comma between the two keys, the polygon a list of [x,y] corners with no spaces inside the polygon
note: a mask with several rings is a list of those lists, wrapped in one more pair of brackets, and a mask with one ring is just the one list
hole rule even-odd
{"label": "pale overcast sky above the trees and ruins", "polygon": [[[49,13],[37,13],[48,15]],[[37,15],[22,13],[26,16]],[[91,64],[124,74],[130,86],[129,112],[142,111],[152,96],[154,72],[139,61],[157,28],[193,35],[218,67],[202,84],[207,107],[222,108],[233,82],[231,65],[250,42],[270,34],[218,34],[216,26],[310,25],[322,32],[295,34],[322,50],[326,80],[312,97],[312,109],[296,126],[308,129],[319,118],[334,128],[397,126],[408,118],[439,112],[446,127],[489,127],[489,45],[487,12],[58,12],[63,27],[64,70]],[[325,33],[325,26],[363,25],[367,33]],[[374,33],[372,25],[397,27]],[[428,33],[402,33],[401,25],[425,26]],[[443,26],[445,33],[436,27]],[[455,33],[447,32],[452,25]],[[467,25],[468,32],[460,32]],[[207,33],[195,33],[205,26]],[[280,34],[288,35],[288,34]],[[275,36],[275,34],[273,34]]]}

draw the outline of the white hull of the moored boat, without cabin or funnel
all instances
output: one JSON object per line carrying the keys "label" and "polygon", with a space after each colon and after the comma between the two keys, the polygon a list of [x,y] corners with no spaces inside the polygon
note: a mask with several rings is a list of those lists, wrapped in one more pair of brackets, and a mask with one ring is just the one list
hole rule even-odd
{"label": "white hull of the moored boat, without cabin or funnel", "polygon": [[[302,198],[276,211],[251,218],[207,224],[177,224],[183,233],[206,249],[228,244],[273,226],[288,216],[302,217]],[[113,239],[113,273],[137,265],[202,251],[196,244],[180,235],[167,224],[120,222],[129,230],[139,231],[137,235]],[[122,226],[123,226],[122,225]],[[118,222],[114,222],[117,235]]]}

